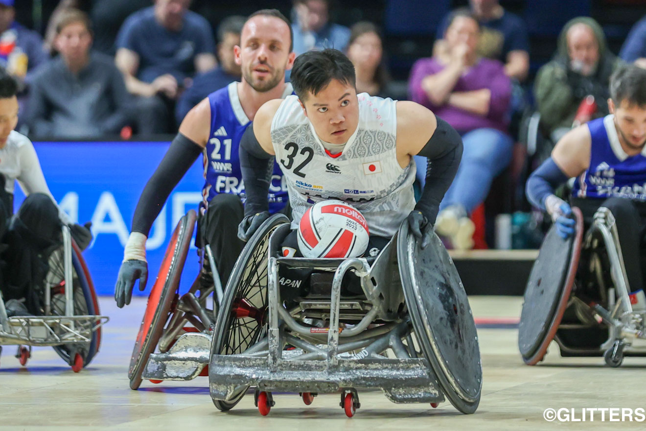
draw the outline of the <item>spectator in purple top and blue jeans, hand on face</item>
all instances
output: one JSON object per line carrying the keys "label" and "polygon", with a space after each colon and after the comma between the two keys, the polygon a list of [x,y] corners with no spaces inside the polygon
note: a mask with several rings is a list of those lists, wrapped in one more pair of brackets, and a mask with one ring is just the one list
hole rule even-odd
{"label": "spectator in purple top and blue jeans, hand on face", "polygon": [[505,118],[510,80],[502,63],[477,56],[479,34],[479,23],[468,10],[453,12],[444,34],[448,50],[418,60],[408,82],[410,100],[432,109],[462,135],[462,162],[435,223],[435,231],[457,249],[473,247],[474,224],[468,216],[509,164],[514,143]]}

